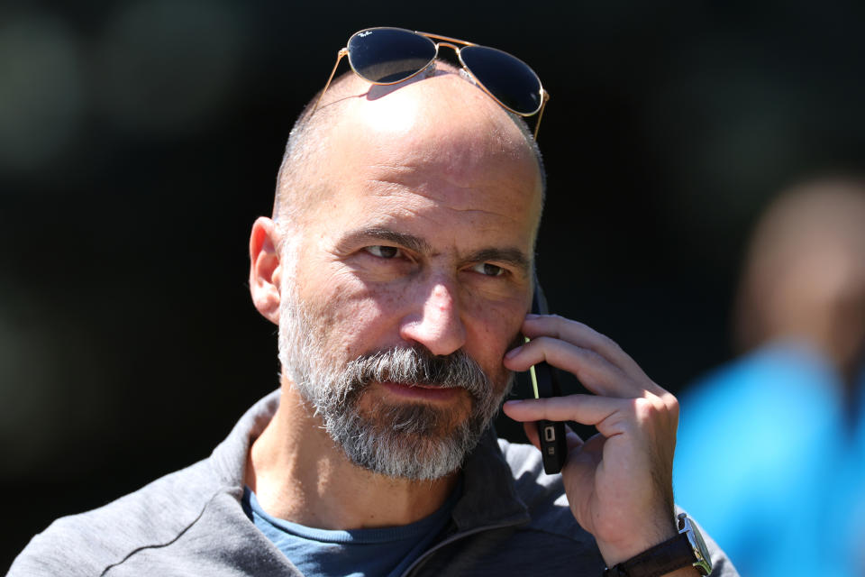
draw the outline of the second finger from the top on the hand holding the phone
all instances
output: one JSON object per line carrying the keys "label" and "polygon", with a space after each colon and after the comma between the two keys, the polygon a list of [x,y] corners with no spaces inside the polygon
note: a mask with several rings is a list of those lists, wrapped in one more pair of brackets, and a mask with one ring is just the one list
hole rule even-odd
{"label": "second finger from the top on the hand holding the phone", "polygon": [[639,397],[646,387],[599,354],[549,336],[508,352],[503,363],[511,371],[528,371],[542,361],[570,372],[587,389],[604,397]]}

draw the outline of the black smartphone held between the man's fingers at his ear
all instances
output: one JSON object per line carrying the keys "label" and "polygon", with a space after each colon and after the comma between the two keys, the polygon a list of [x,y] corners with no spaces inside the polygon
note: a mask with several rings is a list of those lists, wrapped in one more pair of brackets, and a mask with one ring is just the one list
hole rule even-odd
{"label": "black smartphone held between the man's fingers at his ear", "polygon": [[[547,299],[543,297],[541,284],[534,281],[534,298],[532,312],[535,315],[547,315]],[[526,339],[528,341],[528,339]],[[547,362],[539,362],[529,369],[532,377],[534,398],[560,397],[561,387],[559,376]],[[560,472],[568,456],[568,444],[565,442],[565,424],[556,421],[542,420],[537,422],[538,436],[541,439],[543,455],[543,472],[548,475]]]}

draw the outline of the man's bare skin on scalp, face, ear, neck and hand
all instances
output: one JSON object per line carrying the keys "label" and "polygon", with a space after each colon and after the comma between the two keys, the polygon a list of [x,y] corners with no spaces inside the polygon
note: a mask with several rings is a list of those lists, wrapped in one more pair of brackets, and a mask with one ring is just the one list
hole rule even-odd
{"label": "man's bare skin on scalp, face, ear, neck and hand", "polygon": [[[583,444],[571,434],[562,475],[571,510],[607,563],[675,535],[675,398],[585,325],[526,316],[542,185],[513,122],[451,73],[369,94],[356,83],[360,96],[341,100],[318,164],[327,167],[327,189],[287,230],[264,217],[253,226],[250,292],[259,312],[279,322],[281,281],[292,274],[297,298],[322,321],[332,362],[392,346],[462,349],[497,392],[505,368],[546,359],[573,372],[598,396],[509,402],[505,413],[525,423],[592,423],[605,435]],[[299,246],[292,271],[278,250],[282,234]],[[509,352],[521,331],[533,341]],[[270,514],[322,528],[389,527],[431,514],[450,494],[458,472],[408,481],[353,465],[285,377],[282,389],[248,463],[247,483]],[[453,423],[470,407],[461,389],[373,383],[360,410],[375,415],[407,401],[449,408]],[[526,430],[537,444],[533,426]]]}

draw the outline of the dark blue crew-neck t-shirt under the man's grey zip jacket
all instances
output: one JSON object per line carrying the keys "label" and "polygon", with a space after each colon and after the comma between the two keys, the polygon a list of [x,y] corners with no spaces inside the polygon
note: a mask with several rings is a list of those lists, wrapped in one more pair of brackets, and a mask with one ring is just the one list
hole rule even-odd
{"label": "dark blue crew-neck t-shirt under the man's grey zip jacket", "polygon": [[255,527],[305,575],[396,577],[442,534],[461,488],[460,480],[441,508],[402,527],[349,531],[305,527],[270,516],[249,487],[243,491],[242,506]]}

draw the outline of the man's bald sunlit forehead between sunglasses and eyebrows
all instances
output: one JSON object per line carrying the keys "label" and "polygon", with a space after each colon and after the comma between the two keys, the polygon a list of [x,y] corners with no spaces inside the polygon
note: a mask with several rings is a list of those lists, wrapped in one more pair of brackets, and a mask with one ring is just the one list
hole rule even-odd
{"label": "man's bald sunlit forehead between sunglasses and eyebrows", "polygon": [[533,235],[542,202],[534,151],[477,87],[442,75],[384,96],[352,98],[344,107],[328,131],[328,198],[320,206],[337,197],[387,196],[474,213],[479,221],[498,216],[507,222],[497,225],[528,227]]}

